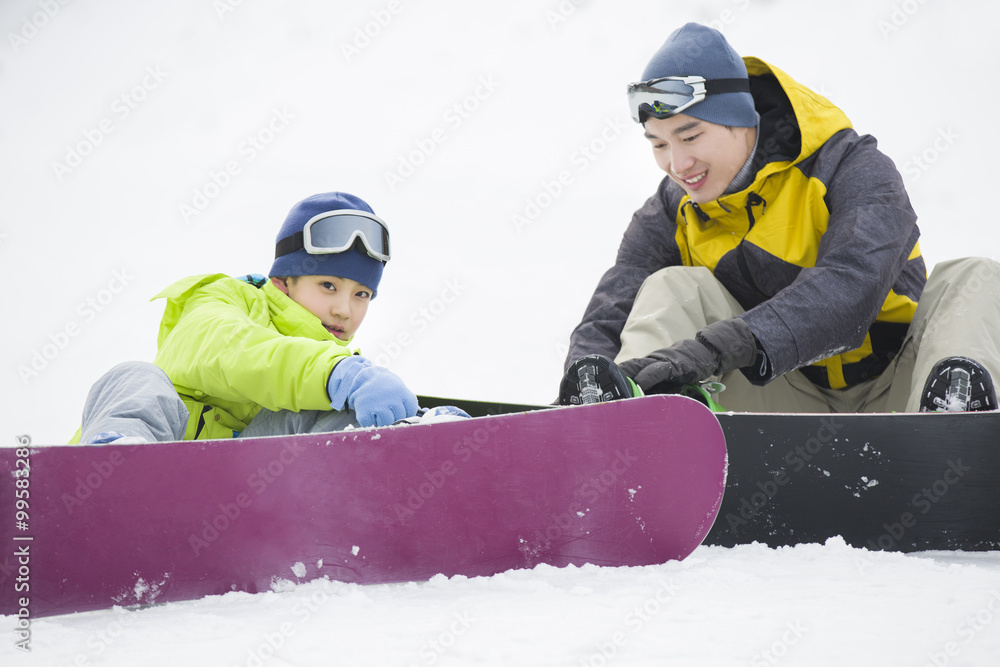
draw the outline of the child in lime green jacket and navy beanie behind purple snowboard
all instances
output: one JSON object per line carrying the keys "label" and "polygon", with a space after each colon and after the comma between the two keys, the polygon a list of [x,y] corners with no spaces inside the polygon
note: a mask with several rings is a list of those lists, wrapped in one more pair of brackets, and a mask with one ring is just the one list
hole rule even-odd
{"label": "child in lime green jacket and navy beanie behind purple snowboard", "polygon": [[364,201],[318,194],[289,212],[263,276],[181,280],[153,364],[126,362],[91,389],[73,442],[232,438],[386,426],[417,413],[390,371],[352,354],[389,261]]}

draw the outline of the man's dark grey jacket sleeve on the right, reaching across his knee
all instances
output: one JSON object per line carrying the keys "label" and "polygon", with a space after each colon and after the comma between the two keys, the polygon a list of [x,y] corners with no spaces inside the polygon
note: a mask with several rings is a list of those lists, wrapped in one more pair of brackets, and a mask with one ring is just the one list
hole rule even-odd
{"label": "man's dark grey jacket sleeve on the right, reaching across his knee", "polygon": [[827,184],[829,222],[816,266],[741,315],[767,355],[764,373],[744,370],[758,384],[859,347],[919,236],[902,177],[874,138],[844,130],[808,160],[800,168]]}

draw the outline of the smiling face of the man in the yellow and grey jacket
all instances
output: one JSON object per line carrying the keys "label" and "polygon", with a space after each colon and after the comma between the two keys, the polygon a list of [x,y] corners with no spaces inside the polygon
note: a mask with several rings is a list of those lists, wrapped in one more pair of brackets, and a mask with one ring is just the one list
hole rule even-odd
{"label": "smiling face of the man in the yellow and grey jacket", "polygon": [[646,138],[657,166],[692,201],[718,199],[750,156],[757,128],[716,125],[685,114],[648,118]]}

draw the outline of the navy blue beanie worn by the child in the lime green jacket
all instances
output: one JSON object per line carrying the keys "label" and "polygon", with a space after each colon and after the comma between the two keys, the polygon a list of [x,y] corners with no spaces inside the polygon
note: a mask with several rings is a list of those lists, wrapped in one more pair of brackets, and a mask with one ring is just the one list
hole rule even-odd
{"label": "navy blue beanie worn by the child in the lime green jacket", "polygon": [[[345,192],[327,192],[303,199],[292,207],[288,217],[278,231],[277,244],[284,238],[301,232],[312,218],[329,211],[365,211],[375,214],[375,211],[363,200]],[[382,269],[385,264],[364,250],[361,240],[344,252],[325,255],[311,255],[300,248],[274,260],[269,276],[287,278],[290,276],[338,276],[355,280],[372,291],[372,298],[378,293],[378,284],[382,280]]]}

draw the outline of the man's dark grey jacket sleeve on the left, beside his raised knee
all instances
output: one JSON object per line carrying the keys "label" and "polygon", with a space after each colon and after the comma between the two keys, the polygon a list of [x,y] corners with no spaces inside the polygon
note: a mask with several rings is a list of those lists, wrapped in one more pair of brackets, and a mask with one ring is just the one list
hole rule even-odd
{"label": "man's dark grey jacket sleeve on the left, beside his raised knee", "polygon": [[674,238],[680,198],[673,191],[679,188],[671,185],[664,178],[656,193],[633,214],[615,265],[598,282],[583,320],[570,336],[565,367],[587,354],[613,359],[621,349],[621,332],[643,281],[664,267],[681,263]]}

